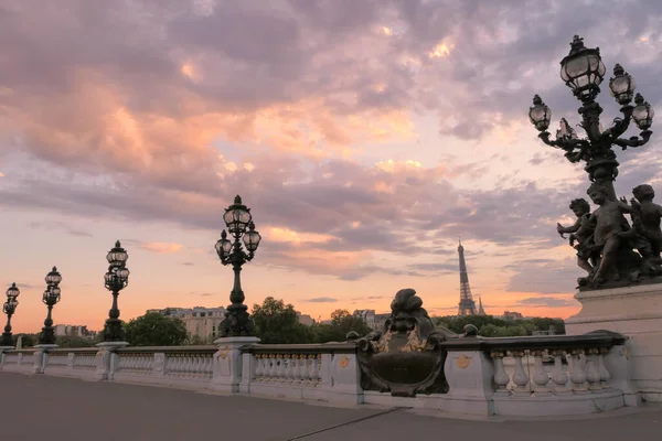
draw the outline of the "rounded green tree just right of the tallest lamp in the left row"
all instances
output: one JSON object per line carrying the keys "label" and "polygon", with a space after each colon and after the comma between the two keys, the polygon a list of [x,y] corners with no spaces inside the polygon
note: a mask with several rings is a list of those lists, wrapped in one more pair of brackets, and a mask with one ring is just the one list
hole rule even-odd
{"label": "rounded green tree just right of the tallest lamp in the left row", "polygon": [[298,344],[313,341],[310,327],[299,323],[295,306],[285,304],[282,300],[266,298],[261,305],[253,305],[252,316],[260,343]]}

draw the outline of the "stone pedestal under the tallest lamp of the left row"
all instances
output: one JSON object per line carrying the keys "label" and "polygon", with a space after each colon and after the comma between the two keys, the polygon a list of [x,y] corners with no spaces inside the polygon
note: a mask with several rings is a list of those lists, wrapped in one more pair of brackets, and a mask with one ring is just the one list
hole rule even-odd
{"label": "stone pedestal under the tallest lamp of the left row", "polygon": [[[242,352],[245,345],[259,343],[257,337],[225,337],[214,341],[218,351],[214,354],[214,374],[210,383],[210,390],[236,394],[239,391],[243,374],[247,379],[253,375],[254,366],[247,365],[243,369]],[[243,373],[243,370],[246,370]]]}

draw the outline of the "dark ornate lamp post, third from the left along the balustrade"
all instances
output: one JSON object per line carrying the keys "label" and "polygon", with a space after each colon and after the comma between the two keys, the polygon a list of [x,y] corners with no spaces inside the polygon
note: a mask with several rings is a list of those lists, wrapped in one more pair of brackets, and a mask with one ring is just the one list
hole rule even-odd
{"label": "dark ornate lamp post, third from the left along the balustrade", "polygon": [[106,320],[106,329],[104,331],[104,342],[124,342],[125,332],[121,329],[119,320],[119,309],[117,308],[117,297],[119,291],[129,284],[129,269],[126,267],[129,255],[121,247],[119,240],[115,243],[115,247],[106,255],[108,260],[108,272],[104,276],[105,287],[113,293],[113,306],[108,312]]}

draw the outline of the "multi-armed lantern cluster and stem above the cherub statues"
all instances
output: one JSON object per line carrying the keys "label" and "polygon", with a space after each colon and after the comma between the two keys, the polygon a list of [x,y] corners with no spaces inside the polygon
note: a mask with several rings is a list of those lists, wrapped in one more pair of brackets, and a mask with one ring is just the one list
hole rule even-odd
{"label": "multi-armed lantern cluster and stem above the cherub statues", "polygon": [[[573,90],[575,97],[581,101],[578,111],[581,115],[579,125],[587,137],[579,138],[565,118],[560,119],[560,127],[556,131],[556,139],[549,139],[549,120],[552,110],[543,103],[540,96],[533,98],[533,107],[528,110],[528,118],[541,132],[538,138],[548,146],[565,151],[565,157],[570,162],[584,161],[584,170],[591,182],[605,187],[609,198],[616,201],[613,180],[618,175],[618,161],[612,150],[613,146],[626,150],[628,147],[637,148],[645,144],[652,131],[650,130],[654,111],[640,94],[634,95],[636,83],[620,64],[613,67],[613,77],[609,79],[611,96],[621,106],[622,118],[616,118],[613,125],[602,131],[600,114],[602,108],[596,101],[600,93],[600,84],[605,77],[606,68],[600,57],[599,47],[588,49],[584,41],[575,35],[570,43],[570,53],[560,61],[560,77]],[[632,105],[634,98],[634,105]],[[641,130],[639,137],[620,138],[628,130],[630,121]]]}

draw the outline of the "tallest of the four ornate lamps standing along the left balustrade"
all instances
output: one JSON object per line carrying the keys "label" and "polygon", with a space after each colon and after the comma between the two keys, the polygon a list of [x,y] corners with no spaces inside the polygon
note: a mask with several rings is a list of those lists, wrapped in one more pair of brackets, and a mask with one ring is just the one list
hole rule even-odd
{"label": "tallest of the four ornate lamps standing along the left balustrade", "polygon": [[[232,265],[234,287],[229,293],[232,304],[227,306],[225,320],[218,326],[220,334],[222,337],[253,336],[255,335],[255,325],[248,316],[248,308],[244,304],[245,297],[239,275],[242,266],[255,257],[261,236],[255,230],[250,208],[242,204],[239,195],[235,197],[234,204],[225,208],[223,220],[225,220],[231,239],[234,238],[234,240],[227,238],[228,235],[224,229],[215,248],[221,263]],[[242,243],[244,243],[243,247]],[[248,252],[244,251],[244,247]]]}

